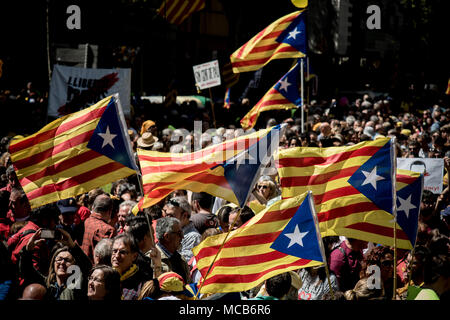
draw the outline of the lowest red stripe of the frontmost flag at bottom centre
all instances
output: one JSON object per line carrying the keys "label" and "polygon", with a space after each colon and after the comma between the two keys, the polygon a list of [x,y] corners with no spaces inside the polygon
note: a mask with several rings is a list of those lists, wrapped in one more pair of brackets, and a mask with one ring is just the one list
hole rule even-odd
{"label": "lowest red stripe of the frontmost flag at bottom centre", "polygon": [[[308,263],[310,263],[311,260],[306,260],[306,259],[298,259],[298,261],[293,262],[293,263],[285,263],[285,264],[280,264],[277,266],[274,266],[270,269],[264,270],[258,273],[251,273],[251,274],[217,274],[217,275],[213,275],[211,277],[207,277],[204,284],[203,285],[208,285],[208,284],[213,284],[213,283],[250,283],[250,282],[254,282],[258,279],[261,279],[264,275],[272,272],[272,271],[276,271],[276,270],[283,270],[286,268],[289,268],[291,266],[304,266]],[[204,276],[206,274],[207,269],[204,268],[202,269],[200,272],[202,273],[202,275]]]}

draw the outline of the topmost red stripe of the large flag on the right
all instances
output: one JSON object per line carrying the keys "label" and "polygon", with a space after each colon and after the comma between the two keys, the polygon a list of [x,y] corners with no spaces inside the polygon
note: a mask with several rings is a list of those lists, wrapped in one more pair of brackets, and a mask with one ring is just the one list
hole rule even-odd
{"label": "topmost red stripe of the large flag on the right", "polygon": [[278,168],[286,167],[310,167],[316,165],[329,165],[336,162],[344,161],[350,158],[359,156],[373,156],[382,147],[367,146],[353,151],[345,151],[338,154],[331,155],[329,157],[297,157],[295,155],[289,155],[284,158],[280,158],[277,165]]}

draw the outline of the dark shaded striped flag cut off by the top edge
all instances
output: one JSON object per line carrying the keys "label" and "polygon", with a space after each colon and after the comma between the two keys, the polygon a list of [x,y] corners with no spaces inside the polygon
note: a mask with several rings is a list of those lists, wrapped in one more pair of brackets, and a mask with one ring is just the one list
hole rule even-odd
{"label": "dark shaded striped flag cut off by the top edge", "polygon": [[158,14],[169,23],[179,25],[191,14],[205,7],[205,0],[164,0]]}

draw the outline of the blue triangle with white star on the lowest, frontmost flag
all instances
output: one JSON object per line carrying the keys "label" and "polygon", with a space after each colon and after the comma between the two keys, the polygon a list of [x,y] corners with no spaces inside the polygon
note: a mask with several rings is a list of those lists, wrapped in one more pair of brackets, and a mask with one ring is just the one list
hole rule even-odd
{"label": "blue triangle with white star on the lowest, frontmost flag", "polygon": [[308,194],[270,247],[301,259],[323,262],[309,197]]}

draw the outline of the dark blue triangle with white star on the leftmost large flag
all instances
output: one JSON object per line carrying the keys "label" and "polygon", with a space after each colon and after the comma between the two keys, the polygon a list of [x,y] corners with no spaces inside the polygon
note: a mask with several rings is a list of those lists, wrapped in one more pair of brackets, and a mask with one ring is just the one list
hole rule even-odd
{"label": "dark blue triangle with white star on the leftmost large flag", "polygon": [[117,161],[124,166],[136,170],[135,161],[127,152],[129,138],[124,137],[123,126],[119,120],[114,98],[111,98],[103,112],[87,147]]}

